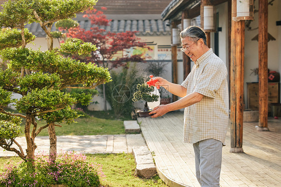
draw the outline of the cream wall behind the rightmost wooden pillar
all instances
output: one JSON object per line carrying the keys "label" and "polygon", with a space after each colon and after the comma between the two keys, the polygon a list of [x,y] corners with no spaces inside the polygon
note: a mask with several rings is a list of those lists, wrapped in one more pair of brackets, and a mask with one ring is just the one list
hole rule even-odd
{"label": "cream wall behind the rightmost wooden pillar", "polygon": [[[275,0],[272,5],[268,5],[268,33],[270,33],[276,40],[268,42],[268,69],[270,71],[281,72],[281,45],[280,35],[281,26],[276,26],[276,21],[281,20],[280,11],[281,2]],[[255,0],[255,8],[258,8],[258,1]],[[279,8],[278,8],[279,7]],[[247,108],[247,93],[246,83],[257,82],[257,76],[250,75],[251,70],[258,68],[258,41],[251,39],[258,34],[258,12],[254,14],[254,20],[250,23],[252,30],[247,30],[245,27],[245,56],[244,56],[244,101],[245,108]]]}

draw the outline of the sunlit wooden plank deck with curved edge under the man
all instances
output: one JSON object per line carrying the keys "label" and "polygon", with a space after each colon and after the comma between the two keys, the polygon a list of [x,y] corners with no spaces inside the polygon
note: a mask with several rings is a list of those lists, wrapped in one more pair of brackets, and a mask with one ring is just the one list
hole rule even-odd
{"label": "sunlit wooden plank deck with curved edge under the man", "polygon": [[[160,178],[170,187],[199,187],[191,144],[182,142],[183,112],[138,118]],[[230,126],[222,149],[221,187],[281,187],[281,120],[268,119],[269,132],[243,124],[244,153],[229,153]]]}

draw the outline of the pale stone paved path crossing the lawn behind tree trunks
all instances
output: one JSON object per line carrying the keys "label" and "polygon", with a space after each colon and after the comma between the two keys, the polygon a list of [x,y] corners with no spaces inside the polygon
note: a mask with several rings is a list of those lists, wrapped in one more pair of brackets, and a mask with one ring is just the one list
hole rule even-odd
{"label": "pale stone paved path crossing the lawn behind tree trunks", "polygon": [[[15,139],[22,149],[26,149],[24,137]],[[39,151],[49,152],[49,139],[47,136],[36,137],[35,143]],[[126,135],[92,135],[92,136],[57,136],[57,152],[76,151],[79,153],[131,153],[132,147],[146,146],[141,134]],[[14,145],[15,148],[16,145]],[[13,152],[3,151],[0,148],[0,157],[17,156]]]}

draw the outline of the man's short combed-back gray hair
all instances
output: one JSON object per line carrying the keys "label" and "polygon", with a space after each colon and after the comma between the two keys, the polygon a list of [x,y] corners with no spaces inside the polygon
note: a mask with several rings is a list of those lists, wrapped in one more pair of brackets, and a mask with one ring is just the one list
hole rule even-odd
{"label": "man's short combed-back gray hair", "polygon": [[191,40],[196,42],[198,39],[202,38],[204,41],[204,44],[207,45],[207,37],[205,32],[202,28],[198,26],[188,26],[184,30],[182,30],[179,34],[180,38],[190,37]]}

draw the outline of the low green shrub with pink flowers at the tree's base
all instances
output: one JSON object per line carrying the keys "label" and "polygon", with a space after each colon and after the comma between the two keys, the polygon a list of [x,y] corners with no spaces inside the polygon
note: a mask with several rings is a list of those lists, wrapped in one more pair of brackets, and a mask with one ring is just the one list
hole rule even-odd
{"label": "low green shrub with pink flowers at the tree's base", "polygon": [[34,163],[34,167],[23,161],[5,163],[0,170],[0,187],[98,187],[104,177],[101,165],[87,162],[85,155],[76,152],[59,154],[54,162],[41,153]]}

